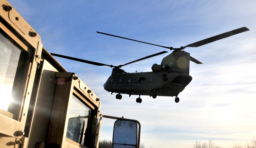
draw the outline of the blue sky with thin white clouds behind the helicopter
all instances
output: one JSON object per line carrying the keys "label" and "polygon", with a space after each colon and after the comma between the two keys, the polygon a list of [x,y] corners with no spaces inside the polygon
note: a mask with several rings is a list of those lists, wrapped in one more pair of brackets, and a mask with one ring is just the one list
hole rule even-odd
{"label": "blue sky with thin white clouds behind the helicopter", "polygon": [[[204,63],[190,63],[191,83],[173,97],[123,95],[103,89],[112,69],[63,58],[101,99],[101,113],[140,121],[146,147],[192,147],[212,139],[232,147],[256,135],[255,1],[9,1],[41,36],[51,53],[120,65],[168,51],[96,31],[178,48],[240,27],[250,31],[198,48],[186,48]],[[171,51],[169,51],[170,53]],[[168,53],[122,67],[151,71]],[[114,121],[103,119],[101,139],[112,139]]]}

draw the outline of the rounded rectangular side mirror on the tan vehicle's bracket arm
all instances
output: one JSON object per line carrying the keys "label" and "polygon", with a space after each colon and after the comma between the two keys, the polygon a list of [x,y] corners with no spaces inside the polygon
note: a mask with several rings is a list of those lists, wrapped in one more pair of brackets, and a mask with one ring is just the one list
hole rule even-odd
{"label": "rounded rectangular side mirror on the tan vehicle's bracket arm", "polygon": [[116,120],[113,131],[113,148],[137,147],[137,123],[127,120]]}

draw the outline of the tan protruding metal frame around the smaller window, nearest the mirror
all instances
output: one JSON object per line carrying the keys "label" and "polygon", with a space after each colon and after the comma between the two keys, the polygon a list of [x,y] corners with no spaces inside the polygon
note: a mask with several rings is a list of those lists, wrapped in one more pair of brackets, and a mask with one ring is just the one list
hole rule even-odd
{"label": "tan protruding metal frame around the smaller window, nearest the mirror", "polygon": [[[67,73],[70,74],[67,75]],[[59,74],[62,76],[60,76]],[[49,146],[58,146],[64,148],[87,148],[87,146],[85,145],[79,144],[66,138],[71,100],[72,96],[74,95],[93,112],[91,113],[91,127],[89,127],[91,131],[88,146],[94,147],[97,123],[100,115],[99,98],[92,91],[87,91],[90,90],[89,87],[84,84],[82,80],[78,78],[74,73],[57,72],[56,76],[60,77],[57,78],[57,86],[54,98],[54,105],[52,108],[51,121],[49,125],[47,143],[49,144]]]}

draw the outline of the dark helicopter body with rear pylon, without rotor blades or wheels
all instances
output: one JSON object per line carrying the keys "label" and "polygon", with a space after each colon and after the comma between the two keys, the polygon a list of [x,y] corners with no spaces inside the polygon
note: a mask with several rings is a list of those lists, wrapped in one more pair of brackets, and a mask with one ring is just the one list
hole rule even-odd
{"label": "dark helicopter body with rear pylon, without rotor blades or wheels", "polygon": [[111,93],[149,96],[177,96],[191,82],[190,54],[175,51],[154,64],[152,72],[126,73],[113,68],[104,89]]}

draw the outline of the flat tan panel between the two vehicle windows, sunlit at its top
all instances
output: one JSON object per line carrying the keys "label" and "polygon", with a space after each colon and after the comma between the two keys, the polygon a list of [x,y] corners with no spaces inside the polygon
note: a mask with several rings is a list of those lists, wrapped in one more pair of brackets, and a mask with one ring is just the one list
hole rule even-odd
{"label": "flat tan panel between the two vehicle windows, sunlit at its top", "polygon": [[46,143],[56,89],[55,73],[57,70],[46,60],[41,66],[41,77],[30,123],[28,147],[35,147],[37,142]]}

